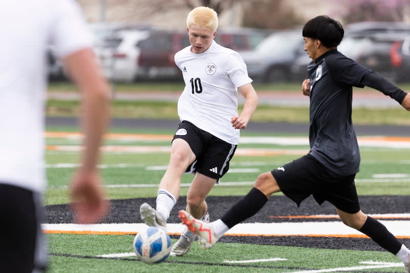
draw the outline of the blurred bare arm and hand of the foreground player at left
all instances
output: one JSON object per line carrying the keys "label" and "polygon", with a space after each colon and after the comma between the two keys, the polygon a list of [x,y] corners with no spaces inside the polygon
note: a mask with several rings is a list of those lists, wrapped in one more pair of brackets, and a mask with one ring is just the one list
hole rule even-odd
{"label": "blurred bare arm and hand of the foreground player at left", "polygon": [[72,208],[76,222],[94,223],[106,216],[109,207],[96,168],[109,120],[109,87],[100,74],[92,49],[68,55],[64,64],[81,92],[81,125],[85,137],[81,167],[72,181]]}

